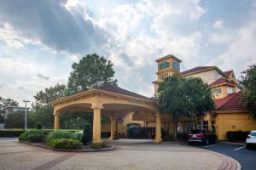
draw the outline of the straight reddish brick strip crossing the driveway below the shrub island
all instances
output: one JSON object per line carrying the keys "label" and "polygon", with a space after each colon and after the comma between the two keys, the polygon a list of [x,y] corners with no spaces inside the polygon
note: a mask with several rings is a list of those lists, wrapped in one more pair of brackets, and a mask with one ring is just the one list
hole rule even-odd
{"label": "straight reddish brick strip crossing the driveway below the shrub island", "polygon": [[75,153],[68,153],[65,154],[64,156],[58,157],[52,161],[47,161],[46,163],[39,165],[38,167],[33,167],[31,170],[47,170],[50,169],[51,167],[55,167],[55,165],[60,164],[62,161],[66,161],[68,158],[71,156],[76,155]]}

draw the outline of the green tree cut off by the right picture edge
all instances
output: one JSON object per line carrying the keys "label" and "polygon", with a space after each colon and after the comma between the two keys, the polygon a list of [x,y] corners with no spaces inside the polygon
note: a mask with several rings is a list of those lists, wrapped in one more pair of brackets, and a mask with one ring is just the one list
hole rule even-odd
{"label": "green tree cut off by the right picture edge", "polygon": [[256,119],[256,65],[250,65],[249,69],[241,72],[241,105],[250,112],[250,116]]}

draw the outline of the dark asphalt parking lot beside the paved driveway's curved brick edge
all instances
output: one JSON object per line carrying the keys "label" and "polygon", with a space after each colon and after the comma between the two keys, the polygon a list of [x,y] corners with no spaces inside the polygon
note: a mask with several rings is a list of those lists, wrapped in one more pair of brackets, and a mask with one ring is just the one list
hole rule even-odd
{"label": "dark asphalt parking lot beside the paved driveway's curved brick edge", "polygon": [[218,143],[212,145],[194,145],[195,147],[213,150],[239,161],[243,170],[256,169],[256,150],[247,150],[245,145]]}

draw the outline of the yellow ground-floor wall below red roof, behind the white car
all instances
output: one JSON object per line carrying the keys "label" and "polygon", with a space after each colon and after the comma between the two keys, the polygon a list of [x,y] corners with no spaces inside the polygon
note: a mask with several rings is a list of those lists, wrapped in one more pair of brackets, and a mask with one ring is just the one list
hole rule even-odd
{"label": "yellow ground-floor wall below red roof, behind the white car", "polygon": [[228,131],[250,131],[256,129],[256,121],[248,118],[246,112],[218,113],[216,116],[216,133],[219,140],[226,139]]}

